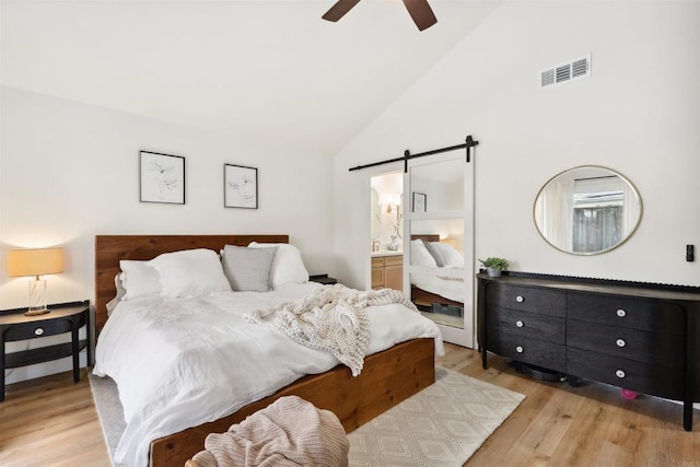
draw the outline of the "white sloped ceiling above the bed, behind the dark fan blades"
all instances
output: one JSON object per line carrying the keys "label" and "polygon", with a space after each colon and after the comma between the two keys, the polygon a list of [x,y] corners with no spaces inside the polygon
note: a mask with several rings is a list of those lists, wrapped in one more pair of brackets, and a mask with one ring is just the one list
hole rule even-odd
{"label": "white sloped ceiling above the bed, behind the dark fan blades", "polygon": [[500,0],[1,0],[3,85],[332,155]]}

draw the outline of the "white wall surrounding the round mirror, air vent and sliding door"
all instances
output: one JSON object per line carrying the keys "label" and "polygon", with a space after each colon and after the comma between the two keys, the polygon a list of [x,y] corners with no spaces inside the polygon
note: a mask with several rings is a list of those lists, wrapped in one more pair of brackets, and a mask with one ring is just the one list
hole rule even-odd
{"label": "white wall surrounding the round mirror, air vent and sliding door", "polygon": [[[476,257],[511,269],[700,285],[700,3],[505,2],[336,157],[338,278],[366,283],[359,164],[464,142],[476,149]],[[592,54],[592,77],[540,90],[539,71]],[[539,188],[583,164],[639,189],[639,230],[597,256],[561,253],[533,221]],[[408,195],[407,195],[408,196]]]}

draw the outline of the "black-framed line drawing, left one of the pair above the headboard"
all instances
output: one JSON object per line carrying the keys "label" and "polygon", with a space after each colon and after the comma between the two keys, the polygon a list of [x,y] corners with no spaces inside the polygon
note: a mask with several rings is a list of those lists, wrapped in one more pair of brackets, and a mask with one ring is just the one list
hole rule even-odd
{"label": "black-framed line drawing, left one of the pair above the headboard", "polygon": [[139,153],[139,200],[185,203],[185,157],[160,152]]}

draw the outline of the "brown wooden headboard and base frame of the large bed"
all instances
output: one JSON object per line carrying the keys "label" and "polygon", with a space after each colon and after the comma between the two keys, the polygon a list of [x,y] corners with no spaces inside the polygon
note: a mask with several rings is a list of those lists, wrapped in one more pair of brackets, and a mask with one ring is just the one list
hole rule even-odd
{"label": "brown wooden headboard and base frame of the large bed", "polygon": [[[152,259],[162,253],[246,246],[250,242],[289,243],[288,235],[97,235],[95,236],[95,324],[107,322],[106,303],[116,295],[115,276],[120,259]],[[372,420],[435,382],[433,339],[413,339],[364,360],[358,377],[338,365],[318,375],[307,375],[273,395],[252,402],[213,422],[194,427],[151,442],[149,465],[184,465],[205,445],[209,433],[224,432],[233,423],[267,407],[282,396],[296,395],[316,407],[331,410],[347,432]]]}

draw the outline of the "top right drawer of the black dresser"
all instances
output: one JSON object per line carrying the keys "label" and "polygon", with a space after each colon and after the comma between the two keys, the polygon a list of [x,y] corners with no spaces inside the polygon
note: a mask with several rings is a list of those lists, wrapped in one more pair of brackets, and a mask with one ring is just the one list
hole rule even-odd
{"label": "top right drawer of the black dresser", "polygon": [[619,295],[569,293],[568,316],[634,329],[684,335],[686,314],[675,303]]}

